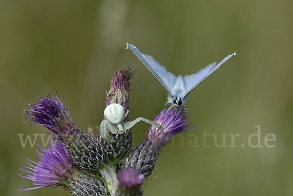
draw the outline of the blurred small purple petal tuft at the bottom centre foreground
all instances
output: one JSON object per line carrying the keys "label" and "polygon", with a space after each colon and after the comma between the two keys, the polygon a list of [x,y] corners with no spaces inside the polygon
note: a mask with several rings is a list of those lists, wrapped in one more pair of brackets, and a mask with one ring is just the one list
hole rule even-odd
{"label": "blurred small purple petal tuft at the bottom centre foreground", "polygon": [[139,174],[139,170],[134,169],[129,169],[118,174],[120,184],[126,188],[131,188],[142,184],[144,178],[145,175]]}

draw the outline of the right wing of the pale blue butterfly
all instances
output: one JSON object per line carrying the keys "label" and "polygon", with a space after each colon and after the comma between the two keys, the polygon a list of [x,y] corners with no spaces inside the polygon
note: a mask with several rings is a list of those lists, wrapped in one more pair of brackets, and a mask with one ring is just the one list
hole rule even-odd
{"label": "right wing of the pale blue butterfly", "polygon": [[217,70],[224,62],[229,60],[231,57],[234,57],[236,53],[233,53],[223,59],[221,62],[218,64],[212,63],[209,64],[207,67],[201,69],[199,72],[186,76],[184,77],[184,87],[185,87],[185,92],[183,98],[192,90],[194,87],[196,87],[201,81],[203,81],[205,78],[207,78],[211,73],[213,73],[215,70]]}

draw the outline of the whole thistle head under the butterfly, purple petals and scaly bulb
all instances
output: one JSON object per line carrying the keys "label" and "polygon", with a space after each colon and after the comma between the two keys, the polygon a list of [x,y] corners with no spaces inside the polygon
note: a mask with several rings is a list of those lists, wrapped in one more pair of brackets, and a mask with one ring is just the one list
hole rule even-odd
{"label": "whole thistle head under the butterfly, purple petals and scaly bulb", "polygon": [[124,168],[126,170],[137,169],[139,170],[139,174],[144,174],[145,176],[151,175],[157,164],[160,148],[176,134],[188,130],[185,122],[186,116],[183,111],[176,111],[174,109],[167,113],[167,110],[164,109],[154,121],[159,124],[163,122],[162,127],[164,133],[152,125],[146,132],[145,141],[134,147],[126,155],[124,159]]}

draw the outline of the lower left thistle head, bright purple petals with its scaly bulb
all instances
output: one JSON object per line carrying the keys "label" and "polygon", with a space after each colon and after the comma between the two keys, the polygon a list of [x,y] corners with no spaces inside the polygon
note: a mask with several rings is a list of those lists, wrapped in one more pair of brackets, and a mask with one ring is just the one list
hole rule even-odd
{"label": "lower left thistle head, bright purple petals with its scaly bulb", "polygon": [[53,142],[47,138],[50,142],[47,150],[38,145],[43,153],[36,150],[36,155],[40,160],[38,163],[28,159],[35,165],[28,163],[30,167],[24,167],[31,171],[21,169],[28,174],[27,176],[19,176],[32,180],[36,187],[20,190],[63,186],[75,196],[105,196],[107,194],[105,185],[94,176],[89,176],[74,168],[64,144],[56,137],[52,139]]}

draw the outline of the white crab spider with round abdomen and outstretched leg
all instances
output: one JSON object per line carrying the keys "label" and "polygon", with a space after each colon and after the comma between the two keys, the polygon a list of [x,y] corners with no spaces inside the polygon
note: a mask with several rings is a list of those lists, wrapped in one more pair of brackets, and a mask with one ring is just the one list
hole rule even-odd
{"label": "white crab spider with round abdomen and outstretched leg", "polygon": [[115,140],[112,140],[111,138],[107,137],[107,130],[109,130],[112,134],[116,134],[116,138],[118,137],[118,134],[121,135],[123,133],[126,133],[128,129],[133,127],[136,123],[139,121],[145,121],[148,124],[155,125],[158,129],[161,129],[160,125],[152,120],[148,120],[146,118],[136,118],[133,121],[127,121],[123,122],[123,120],[128,115],[128,110],[125,113],[124,107],[117,103],[112,103],[108,105],[104,110],[104,117],[106,118],[101,122],[100,125],[100,140],[101,137],[109,142],[114,142]]}

